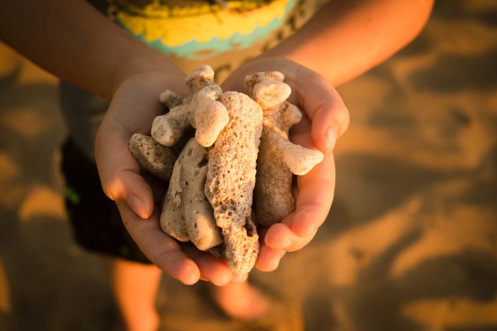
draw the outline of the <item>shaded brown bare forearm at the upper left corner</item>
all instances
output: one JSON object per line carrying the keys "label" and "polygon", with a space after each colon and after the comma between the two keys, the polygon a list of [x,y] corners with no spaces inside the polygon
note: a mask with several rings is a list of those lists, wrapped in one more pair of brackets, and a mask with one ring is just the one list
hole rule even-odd
{"label": "shaded brown bare forearm at the upper left corner", "polygon": [[84,0],[6,1],[0,38],[38,66],[105,98],[135,73],[179,72]]}

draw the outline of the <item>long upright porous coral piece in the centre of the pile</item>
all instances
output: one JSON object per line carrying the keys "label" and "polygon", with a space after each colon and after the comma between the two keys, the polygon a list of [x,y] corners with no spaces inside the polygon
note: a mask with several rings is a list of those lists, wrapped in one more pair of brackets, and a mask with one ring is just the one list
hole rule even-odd
{"label": "long upright porous coral piece in the centre of the pile", "polygon": [[209,151],[205,195],[222,229],[225,257],[234,272],[248,272],[259,252],[250,219],[262,109],[247,95],[225,92],[221,102],[230,121]]}

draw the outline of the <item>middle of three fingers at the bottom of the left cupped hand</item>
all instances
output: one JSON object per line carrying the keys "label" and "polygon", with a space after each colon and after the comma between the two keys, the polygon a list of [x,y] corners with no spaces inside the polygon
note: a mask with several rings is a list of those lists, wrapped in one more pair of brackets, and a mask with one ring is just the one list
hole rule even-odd
{"label": "middle of three fingers at the bottom of the left cupped hand", "polygon": [[198,250],[191,243],[180,244],[183,252],[186,253],[200,269],[200,277],[214,285],[223,286],[228,284],[233,273],[225,261]]}

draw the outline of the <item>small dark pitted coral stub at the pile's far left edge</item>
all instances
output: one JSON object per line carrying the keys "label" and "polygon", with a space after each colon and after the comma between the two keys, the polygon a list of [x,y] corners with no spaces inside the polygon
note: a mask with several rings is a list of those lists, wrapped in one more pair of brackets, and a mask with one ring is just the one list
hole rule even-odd
{"label": "small dark pitted coral stub at the pile's far left edge", "polygon": [[165,181],[171,178],[176,154],[170,147],[161,145],[149,135],[135,133],[129,141],[129,149],[143,170]]}

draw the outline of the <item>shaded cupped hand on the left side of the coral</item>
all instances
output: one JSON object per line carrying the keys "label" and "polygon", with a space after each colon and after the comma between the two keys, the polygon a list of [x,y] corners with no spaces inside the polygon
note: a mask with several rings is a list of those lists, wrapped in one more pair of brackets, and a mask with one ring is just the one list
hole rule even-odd
{"label": "shaded cupped hand on the left side of the coral", "polygon": [[150,134],[154,119],[164,114],[159,94],[169,89],[187,95],[185,75],[148,71],[126,78],[115,90],[110,107],[98,130],[95,158],[102,188],[116,201],[124,226],[149,260],[185,284],[199,279],[216,285],[242,282],[247,275],[232,273],[226,262],[181,244],[160,226],[161,207],[154,205],[152,189],[140,175],[131,155],[129,140],[134,133]]}

